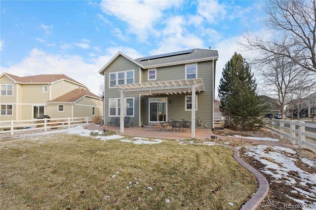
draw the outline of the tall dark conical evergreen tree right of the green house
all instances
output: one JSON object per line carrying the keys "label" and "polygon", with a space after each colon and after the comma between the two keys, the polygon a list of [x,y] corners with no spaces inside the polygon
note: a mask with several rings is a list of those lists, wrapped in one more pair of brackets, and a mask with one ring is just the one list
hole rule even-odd
{"label": "tall dark conical evergreen tree right of the green house", "polygon": [[235,52],[226,63],[218,87],[225,127],[257,129],[263,126],[265,106],[256,94],[256,80],[246,60]]}

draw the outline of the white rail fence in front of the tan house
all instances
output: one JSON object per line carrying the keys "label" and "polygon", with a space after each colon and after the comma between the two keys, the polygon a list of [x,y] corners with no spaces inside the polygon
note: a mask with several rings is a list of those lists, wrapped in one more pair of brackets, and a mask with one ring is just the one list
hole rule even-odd
{"label": "white rail fence in front of the tan house", "polygon": [[10,135],[14,135],[15,132],[47,131],[47,129],[70,128],[71,126],[88,125],[92,123],[92,117],[0,121],[0,134],[10,133]]}

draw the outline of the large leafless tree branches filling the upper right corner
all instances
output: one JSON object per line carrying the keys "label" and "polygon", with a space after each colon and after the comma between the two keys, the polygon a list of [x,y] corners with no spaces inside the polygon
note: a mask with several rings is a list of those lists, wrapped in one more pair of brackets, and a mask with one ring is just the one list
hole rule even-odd
{"label": "large leafless tree branches filling the upper right corner", "polygon": [[266,12],[271,37],[243,35],[248,50],[266,52],[254,61],[284,57],[316,73],[316,0],[270,0]]}

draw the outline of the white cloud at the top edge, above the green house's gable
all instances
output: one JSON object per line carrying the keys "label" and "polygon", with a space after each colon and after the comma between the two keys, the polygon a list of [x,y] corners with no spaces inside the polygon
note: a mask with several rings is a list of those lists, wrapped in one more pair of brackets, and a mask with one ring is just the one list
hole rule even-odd
{"label": "white cloud at the top edge, above the green house's gable", "polygon": [[154,26],[161,21],[162,11],[177,7],[181,1],[101,1],[102,11],[107,15],[128,24],[127,32],[135,34],[140,41],[146,42],[147,37],[159,35]]}

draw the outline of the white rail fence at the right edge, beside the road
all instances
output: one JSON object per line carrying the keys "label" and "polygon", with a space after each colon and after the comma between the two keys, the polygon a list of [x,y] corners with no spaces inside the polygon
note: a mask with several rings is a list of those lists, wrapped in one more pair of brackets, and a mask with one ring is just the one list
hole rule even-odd
{"label": "white rail fence at the right edge, beside the road", "polygon": [[306,148],[316,153],[316,123],[265,119],[265,126],[273,134],[289,140],[291,144],[298,144],[299,148]]}

